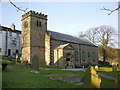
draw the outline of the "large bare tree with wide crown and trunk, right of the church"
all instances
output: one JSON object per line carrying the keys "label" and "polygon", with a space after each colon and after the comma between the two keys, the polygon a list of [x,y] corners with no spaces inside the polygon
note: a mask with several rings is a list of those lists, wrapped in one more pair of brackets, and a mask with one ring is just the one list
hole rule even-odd
{"label": "large bare tree with wide crown and trunk, right of the church", "polygon": [[108,47],[114,47],[116,32],[115,29],[108,25],[90,28],[85,32],[81,32],[79,36],[87,37],[93,43],[100,46],[99,54],[105,61],[108,55]]}

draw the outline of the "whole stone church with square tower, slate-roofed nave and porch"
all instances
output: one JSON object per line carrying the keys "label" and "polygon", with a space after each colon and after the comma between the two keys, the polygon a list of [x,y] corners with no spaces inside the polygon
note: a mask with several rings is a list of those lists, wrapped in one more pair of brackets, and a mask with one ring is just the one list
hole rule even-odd
{"label": "whole stone church with square tower, slate-roofed nave and porch", "polygon": [[47,30],[47,15],[29,11],[22,15],[22,61],[75,68],[98,64],[98,47],[85,38]]}

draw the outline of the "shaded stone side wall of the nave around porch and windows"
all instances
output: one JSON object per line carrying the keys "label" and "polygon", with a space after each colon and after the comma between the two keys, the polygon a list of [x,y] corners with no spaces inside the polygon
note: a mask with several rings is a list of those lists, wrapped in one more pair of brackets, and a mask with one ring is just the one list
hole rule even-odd
{"label": "shaded stone side wall of the nave around porch and windows", "polygon": [[[57,41],[51,40],[51,61],[54,61],[54,52],[53,50],[58,47],[59,45],[70,43],[70,45],[74,48],[74,51],[78,52],[78,60],[73,60],[74,65],[89,65],[91,64],[98,64],[98,56],[97,56],[97,47],[87,46],[87,45],[80,45],[71,42],[64,42],[64,41]],[[82,51],[85,52],[85,61],[82,60]],[[90,52],[90,57],[88,58],[88,52]],[[95,53],[95,61],[92,60],[92,53]],[[74,54],[74,53],[73,53]]]}

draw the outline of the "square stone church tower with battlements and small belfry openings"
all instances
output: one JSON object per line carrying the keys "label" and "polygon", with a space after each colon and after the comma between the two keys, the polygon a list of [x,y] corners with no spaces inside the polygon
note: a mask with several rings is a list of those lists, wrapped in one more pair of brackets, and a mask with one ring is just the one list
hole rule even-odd
{"label": "square stone church tower with battlements and small belfry openings", "polygon": [[22,16],[22,61],[32,63],[36,57],[45,64],[45,32],[47,15],[29,11]]}

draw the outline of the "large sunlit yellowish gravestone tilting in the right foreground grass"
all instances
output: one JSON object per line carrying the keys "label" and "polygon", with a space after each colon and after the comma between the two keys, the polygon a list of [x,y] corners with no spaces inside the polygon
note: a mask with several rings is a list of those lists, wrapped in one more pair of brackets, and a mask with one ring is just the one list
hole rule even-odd
{"label": "large sunlit yellowish gravestone tilting in the right foreground grass", "polygon": [[84,88],[100,88],[101,78],[98,76],[95,68],[89,66],[82,79]]}

